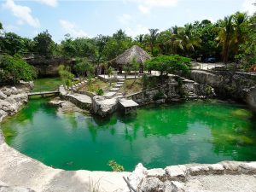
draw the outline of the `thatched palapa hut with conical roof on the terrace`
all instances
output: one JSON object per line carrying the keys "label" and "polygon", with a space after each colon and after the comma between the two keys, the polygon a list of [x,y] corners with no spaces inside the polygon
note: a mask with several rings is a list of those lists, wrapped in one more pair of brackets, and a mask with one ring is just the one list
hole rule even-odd
{"label": "thatched palapa hut with conical roof on the terrace", "polygon": [[125,50],[125,52],[113,60],[109,61],[114,64],[115,67],[119,69],[119,73],[122,73],[124,65],[131,64],[133,58],[137,59],[137,62],[140,64],[140,73],[143,73],[143,63],[148,59],[151,59],[151,56],[148,53],[140,48],[137,45],[133,45],[130,49]]}

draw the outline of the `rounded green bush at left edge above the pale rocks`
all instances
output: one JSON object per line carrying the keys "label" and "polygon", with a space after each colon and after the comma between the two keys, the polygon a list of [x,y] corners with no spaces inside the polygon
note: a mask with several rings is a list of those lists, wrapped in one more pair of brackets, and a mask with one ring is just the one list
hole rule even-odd
{"label": "rounded green bush at left edge above the pale rocks", "polygon": [[28,65],[20,55],[3,55],[0,57],[0,83],[18,83],[30,81],[37,77],[34,67]]}

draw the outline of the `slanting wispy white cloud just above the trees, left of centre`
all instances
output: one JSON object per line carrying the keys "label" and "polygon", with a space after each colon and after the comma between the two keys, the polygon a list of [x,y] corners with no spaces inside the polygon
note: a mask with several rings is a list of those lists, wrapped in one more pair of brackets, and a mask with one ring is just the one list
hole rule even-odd
{"label": "slanting wispy white cloud just above the trees, left of centre", "polygon": [[60,24],[62,29],[74,38],[82,38],[84,36],[89,37],[86,32],[84,32],[82,29],[79,29],[78,26],[68,20],[60,20]]}

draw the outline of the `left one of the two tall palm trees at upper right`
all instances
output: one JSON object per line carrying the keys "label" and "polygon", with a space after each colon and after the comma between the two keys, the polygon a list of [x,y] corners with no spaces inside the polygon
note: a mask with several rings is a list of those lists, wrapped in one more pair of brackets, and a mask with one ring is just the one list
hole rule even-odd
{"label": "left one of the two tall palm trees at upper right", "polygon": [[222,45],[223,61],[226,64],[229,61],[230,47],[234,43],[235,28],[233,24],[233,15],[224,17],[222,27],[218,32],[218,46]]}

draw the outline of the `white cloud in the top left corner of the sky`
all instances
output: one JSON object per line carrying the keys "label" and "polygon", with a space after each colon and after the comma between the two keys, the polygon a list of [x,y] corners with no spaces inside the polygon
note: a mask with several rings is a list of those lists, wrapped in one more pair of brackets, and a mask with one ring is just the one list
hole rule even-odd
{"label": "white cloud in the top left corner of the sky", "polygon": [[3,3],[3,7],[9,9],[13,15],[19,19],[19,24],[25,22],[33,27],[40,26],[38,18],[32,17],[32,10],[29,7],[15,4],[14,0],[6,0],[6,2]]}

